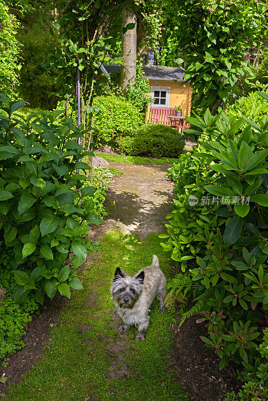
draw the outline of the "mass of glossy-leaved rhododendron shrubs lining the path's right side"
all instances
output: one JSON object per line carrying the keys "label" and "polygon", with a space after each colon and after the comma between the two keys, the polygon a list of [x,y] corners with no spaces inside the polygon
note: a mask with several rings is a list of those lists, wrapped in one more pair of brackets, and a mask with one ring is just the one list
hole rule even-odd
{"label": "mass of glossy-leaved rhododendron shrubs lining the path's right side", "polygon": [[[195,297],[181,323],[200,314],[198,321],[208,327],[202,340],[215,349],[220,368],[232,359],[255,372],[259,358],[267,374],[256,347],[268,310],[268,119],[255,121],[222,111],[212,116],[209,110],[191,118],[203,141],[170,170],[178,181],[176,198],[168,234],[161,237],[182,270],[167,303]],[[260,381],[254,385],[256,393],[261,390]]]}

